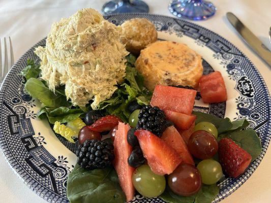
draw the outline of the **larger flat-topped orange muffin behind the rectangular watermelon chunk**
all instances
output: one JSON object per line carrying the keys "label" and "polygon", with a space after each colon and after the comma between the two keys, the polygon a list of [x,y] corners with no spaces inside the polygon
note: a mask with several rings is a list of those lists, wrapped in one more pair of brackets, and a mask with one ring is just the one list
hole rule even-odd
{"label": "larger flat-topped orange muffin behind the rectangular watermelon chunk", "polygon": [[136,69],[144,85],[154,90],[157,84],[198,86],[203,73],[201,56],[185,44],[157,41],[140,52]]}

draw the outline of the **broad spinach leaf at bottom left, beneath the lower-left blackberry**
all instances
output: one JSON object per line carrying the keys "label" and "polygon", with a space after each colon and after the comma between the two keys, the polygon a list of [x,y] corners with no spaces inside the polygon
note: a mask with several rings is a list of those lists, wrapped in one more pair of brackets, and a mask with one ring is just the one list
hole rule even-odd
{"label": "broad spinach leaf at bottom left, beneath the lower-left blackberry", "polygon": [[67,197],[71,203],[119,203],[126,200],[112,167],[85,170],[78,164],[68,176]]}

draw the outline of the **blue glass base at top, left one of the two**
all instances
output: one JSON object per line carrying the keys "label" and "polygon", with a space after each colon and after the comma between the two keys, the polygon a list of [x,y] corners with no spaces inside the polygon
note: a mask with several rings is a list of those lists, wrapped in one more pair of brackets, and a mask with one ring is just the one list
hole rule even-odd
{"label": "blue glass base at top, left one of the two", "polygon": [[102,13],[148,13],[148,5],[140,0],[110,1],[104,4]]}

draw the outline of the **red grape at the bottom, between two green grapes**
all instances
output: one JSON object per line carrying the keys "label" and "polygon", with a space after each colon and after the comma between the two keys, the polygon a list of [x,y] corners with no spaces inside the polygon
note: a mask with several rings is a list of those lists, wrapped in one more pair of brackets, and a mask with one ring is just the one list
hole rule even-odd
{"label": "red grape at the bottom, between two green grapes", "polygon": [[190,196],[199,191],[201,176],[194,165],[182,162],[168,176],[168,185],[174,193],[182,196]]}

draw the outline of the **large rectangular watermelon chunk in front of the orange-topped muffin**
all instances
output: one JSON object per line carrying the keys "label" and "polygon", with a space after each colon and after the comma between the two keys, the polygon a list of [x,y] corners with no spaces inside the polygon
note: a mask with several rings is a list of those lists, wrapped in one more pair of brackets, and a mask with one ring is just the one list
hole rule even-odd
{"label": "large rectangular watermelon chunk in front of the orange-topped muffin", "polygon": [[156,85],[151,106],[191,115],[197,91],[164,85]]}

